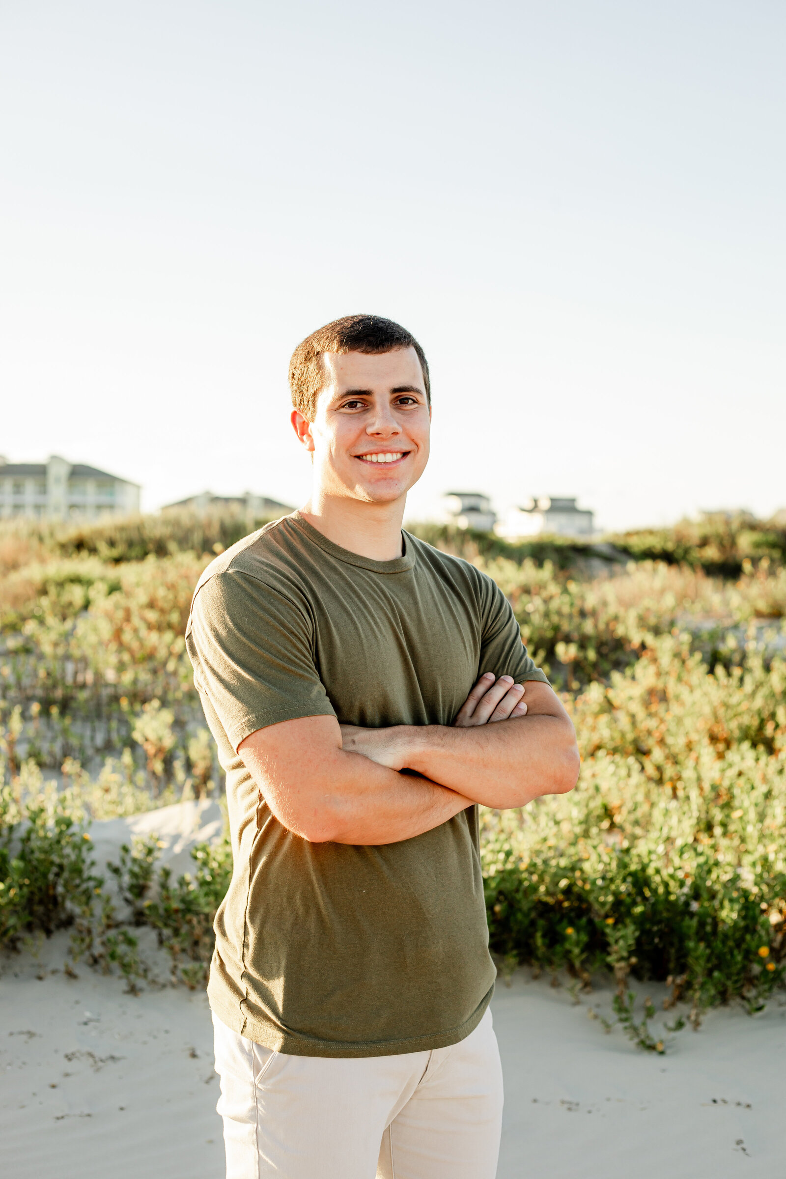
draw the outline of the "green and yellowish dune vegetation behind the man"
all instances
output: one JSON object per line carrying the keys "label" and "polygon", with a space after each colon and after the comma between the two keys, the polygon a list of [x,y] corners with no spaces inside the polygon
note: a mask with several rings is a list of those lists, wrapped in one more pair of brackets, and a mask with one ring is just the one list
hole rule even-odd
{"label": "green and yellowish dune vegetation behind the man", "polygon": [[[71,927],[74,954],[144,974],[151,926],[200,986],[226,888],[226,839],[172,880],[156,841],[125,849],[115,911],[90,823],[222,778],[184,647],[199,573],[260,521],[145,516],[0,527],[0,944]],[[484,568],[564,693],[579,788],[487,811],[491,947],[581,989],[616,980],[616,1016],[661,1050],[630,977],[668,982],[673,1027],[760,1009],[786,974],[786,527],[749,516],[603,545],[508,545],[420,526]]]}

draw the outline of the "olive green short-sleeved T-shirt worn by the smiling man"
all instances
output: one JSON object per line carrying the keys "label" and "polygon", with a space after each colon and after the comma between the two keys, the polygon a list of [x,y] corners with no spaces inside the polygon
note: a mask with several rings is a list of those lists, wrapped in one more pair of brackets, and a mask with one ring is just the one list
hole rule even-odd
{"label": "olive green short-sleeved T-shirt worn by the smiling man", "polygon": [[371,561],[296,512],[203,573],[186,644],[226,771],[235,868],[207,993],[277,1052],[378,1056],[457,1043],[495,968],[477,808],[383,847],[309,843],[272,815],[237,753],[299,717],[449,725],[480,674],[546,681],[509,602],[467,561],[403,534]]}

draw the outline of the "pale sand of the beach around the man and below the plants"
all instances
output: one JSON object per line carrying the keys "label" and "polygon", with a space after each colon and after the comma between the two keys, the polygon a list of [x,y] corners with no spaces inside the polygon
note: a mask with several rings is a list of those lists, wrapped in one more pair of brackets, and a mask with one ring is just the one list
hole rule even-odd
{"label": "pale sand of the beach around the man and below the plants", "polygon": [[[217,804],[97,823],[99,858],[131,831],[156,831],[163,862],[189,864],[220,830]],[[145,931],[146,933],[146,931]],[[0,977],[4,1179],[220,1179],[211,1023],[200,993],[166,983],[138,996],[118,977],[62,971],[67,935],[6,959]],[[656,1006],[662,989],[648,987]],[[749,1017],[711,1013],[666,1038],[663,1056],[606,1034],[610,990],[574,1005],[519,970],[493,1003],[506,1075],[498,1179],[778,1179],[784,1174],[786,1005]],[[317,1179],[317,1177],[315,1177]]]}

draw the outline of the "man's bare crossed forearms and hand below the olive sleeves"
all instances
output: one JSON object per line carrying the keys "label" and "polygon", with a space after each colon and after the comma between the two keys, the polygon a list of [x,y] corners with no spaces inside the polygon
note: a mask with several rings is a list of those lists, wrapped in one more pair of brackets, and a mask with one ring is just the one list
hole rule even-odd
{"label": "man's bare crossed forearms and hand below the olive sleeves", "polygon": [[548,684],[490,673],[451,727],[305,717],[258,729],[238,752],[276,818],[311,843],[397,843],[473,803],[566,793],[579,776],[573,724]]}

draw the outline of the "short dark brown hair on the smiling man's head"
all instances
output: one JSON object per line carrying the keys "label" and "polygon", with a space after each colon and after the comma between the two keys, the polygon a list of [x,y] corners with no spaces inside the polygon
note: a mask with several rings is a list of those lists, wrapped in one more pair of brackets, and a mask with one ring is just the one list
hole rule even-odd
{"label": "short dark brown hair on the smiling man's head", "polygon": [[323,353],[391,353],[395,348],[414,348],[423,370],[425,397],[431,404],[429,365],[415,336],[392,320],[381,315],[345,315],[341,320],[317,328],[297,345],[289,365],[292,404],[304,417],[313,421],[317,396],[324,383]]}

